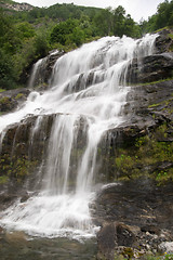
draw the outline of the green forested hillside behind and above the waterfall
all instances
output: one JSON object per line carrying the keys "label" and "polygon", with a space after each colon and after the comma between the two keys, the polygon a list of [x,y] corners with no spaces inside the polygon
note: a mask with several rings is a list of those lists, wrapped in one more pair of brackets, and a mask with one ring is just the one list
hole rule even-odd
{"label": "green forested hillside behind and above the waterfall", "polygon": [[156,14],[138,24],[121,5],[112,10],[64,3],[17,12],[3,8],[4,2],[14,3],[0,1],[1,91],[26,84],[26,72],[53,49],[68,52],[105,36],[139,38],[173,26],[173,0],[160,3]]}

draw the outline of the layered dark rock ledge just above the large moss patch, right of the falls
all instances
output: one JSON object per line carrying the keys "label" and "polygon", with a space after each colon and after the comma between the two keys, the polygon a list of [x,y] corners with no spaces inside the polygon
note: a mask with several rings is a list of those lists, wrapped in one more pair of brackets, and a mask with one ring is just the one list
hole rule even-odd
{"label": "layered dark rock ledge just above the large moss patch, right of the falls", "polygon": [[114,147],[130,147],[134,145],[137,138],[150,134],[159,126],[165,123],[168,126],[165,134],[158,135],[157,139],[158,141],[172,142],[172,93],[173,80],[131,87],[124,107],[125,122],[105,133],[104,140]]}

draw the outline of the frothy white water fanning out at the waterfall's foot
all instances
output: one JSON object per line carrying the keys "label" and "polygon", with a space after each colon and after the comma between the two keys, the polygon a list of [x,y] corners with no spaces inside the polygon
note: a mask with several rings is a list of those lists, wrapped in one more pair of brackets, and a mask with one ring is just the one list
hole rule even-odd
{"label": "frothy white water fanning out at the waterfall's foot", "polygon": [[95,232],[89,212],[91,199],[91,194],[39,194],[26,203],[16,202],[4,211],[1,223],[29,235],[91,237]]}

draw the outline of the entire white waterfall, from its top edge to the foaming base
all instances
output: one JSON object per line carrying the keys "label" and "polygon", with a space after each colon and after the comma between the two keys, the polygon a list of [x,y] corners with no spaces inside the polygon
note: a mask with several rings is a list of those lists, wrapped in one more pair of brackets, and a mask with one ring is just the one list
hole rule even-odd
{"label": "entire white waterfall, from its top edge to the foaming base", "polygon": [[[89,203],[93,198],[97,145],[105,131],[125,120],[122,107],[130,90],[125,86],[128,65],[134,57],[141,61],[150,55],[155,39],[149,35],[141,40],[106,37],[84,44],[57,60],[49,91],[42,95],[32,92],[22,109],[0,118],[4,135],[9,125],[30,114],[39,115],[34,136],[41,115],[61,113],[52,126],[42,191],[26,203],[16,202],[2,213],[1,224],[50,237],[94,234]],[[70,158],[81,118],[86,145],[77,161],[71,190]]]}

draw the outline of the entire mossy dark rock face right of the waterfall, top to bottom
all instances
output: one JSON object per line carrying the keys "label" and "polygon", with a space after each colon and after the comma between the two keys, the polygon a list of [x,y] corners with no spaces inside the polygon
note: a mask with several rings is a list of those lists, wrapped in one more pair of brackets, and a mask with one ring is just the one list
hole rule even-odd
{"label": "entire mossy dark rock face right of the waterfall, top to bottom", "polygon": [[[146,56],[139,69],[135,60],[131,63],[130,82],[141,84],[131,87],[128,94],[127,121],[110,130],[101,144],[101,173],[115,184],[101,191],[91,207],[101,225],[99,260],[143,259],[147,253],[173,251],[171,46],[172,39],[163,31],[156,42],[157,54]],[[157,80],[160,82],[152,82]],[[124,239],[118,237],[119,225]]]}

